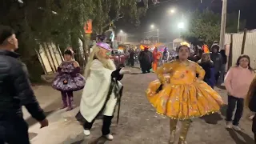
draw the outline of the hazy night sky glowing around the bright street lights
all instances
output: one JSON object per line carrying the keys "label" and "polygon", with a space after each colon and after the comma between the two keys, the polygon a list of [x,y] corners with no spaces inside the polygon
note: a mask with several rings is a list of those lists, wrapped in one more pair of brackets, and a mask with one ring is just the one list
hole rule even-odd
{"label": "hazy night sky glowing around the bright street lights", "polygon": [[[222,12],[222,0],[160,0],[160,4],[154,6],[150,2],[150,8],[146,15],[141,18],[140,26],[134,26],[126,19],[120,19],[116,22],[118,30],[125,31],[133,41],[143,38],[144,32],[150,31],[150,25],[154,24],[158,27],[160,39],[166,39],[171,42],[172,39],[178,38],[177,23],[182,18],[182,14],[186,14],[194,10],[204,10],[209,8],[215,13]],[[238,13],[241,10],[241,19],[246,19],[246,28],[249,30],[256,29],[256,0],[228,0],[227,12]],[[168,14],[168,10],[175,8],[175,14]],[[189,21],[189,18],[186,18]],[[156,35],[156,32],[150,35]]]}

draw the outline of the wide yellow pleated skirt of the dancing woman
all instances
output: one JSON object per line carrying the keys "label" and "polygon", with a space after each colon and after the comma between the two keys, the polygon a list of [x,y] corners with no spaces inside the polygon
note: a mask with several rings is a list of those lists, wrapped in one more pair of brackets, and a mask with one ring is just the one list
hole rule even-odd
{"label": "wide yellow pleated skirt of the dancing woman", "polygon": [[166,83],[163,89],[156,93],[160,85],[158,80],[150,82],[146,97],[158,114],[169,118],[185,120],[202,117],[218,112],[224,104],[221,96],[206,82],[179,85]]}

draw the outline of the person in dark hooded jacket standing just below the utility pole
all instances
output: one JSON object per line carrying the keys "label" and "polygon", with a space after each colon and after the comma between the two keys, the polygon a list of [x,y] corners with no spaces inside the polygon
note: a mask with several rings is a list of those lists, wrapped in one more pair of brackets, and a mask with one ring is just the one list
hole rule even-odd
{"label": "person in dark hooded jacket standing just below the utility pole", "polygon": [[218,78],[220,76],[220,71],[222,68],[222,55],[218,53],[219,46],[218,44],[214,44],[211,46],[210,59],[214,62],[214,70],[215,70],[215,81],[218,83]]}

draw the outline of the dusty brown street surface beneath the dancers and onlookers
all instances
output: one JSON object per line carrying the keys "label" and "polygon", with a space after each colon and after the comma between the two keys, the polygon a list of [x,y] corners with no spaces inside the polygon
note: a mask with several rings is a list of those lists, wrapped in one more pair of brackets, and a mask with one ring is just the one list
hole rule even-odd
{"label": "dusty brown street surface beneath the dancers and onlookers", "polygon": [[[137,69],[133,69],[137,71]],[[39,130],[38,123],[34,122],[29,114],[24,117],[30,125],[30,138],[32,144],[87,144],[87,143],[110,143],[110,144],[167,144],[169,138],[168,118],[155,113],[153,107],[147,101],[145,90],[148,83],[154,80],[154,74],[129,74],[122,83],[125,86],[122,97],[121,117],[118,126],[114,118],[112,132],[114,141],[105,142],[101,135],[102,122],[97,121],[91,130],[91,136],[86,138],[82,134],[82,126],[75,120],[78,108],[66,112],[59,110],[61,96],[58,91],[50,86],[35,86],[38,101],[46,110],[50,120],[50,126]],[[218,90],[226,101],[226,91]],[[75,105],[78,106],[82,91],[75,93]],[[253,144],[251,122],[248,120],[249,111],[245,110],[241,121],[242,132],[225,129],[225,121],[222,113],[212,114],[205,118],[194,118],[187,137],[189,144]]]}

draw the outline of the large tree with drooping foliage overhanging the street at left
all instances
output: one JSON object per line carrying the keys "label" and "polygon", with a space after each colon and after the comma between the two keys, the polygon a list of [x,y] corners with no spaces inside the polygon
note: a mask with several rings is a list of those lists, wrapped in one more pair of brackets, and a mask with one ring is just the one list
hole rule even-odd
{"label": "large tree with drooping foliage overhanging the street at left", "polygon": [[83,27],[87,20],[92,19],[94,32],[102,34],[107,23],[119,14],[138,22],[144,14],[141,11],[146,9],[147,5],[138,7],[137,0],[3,0],[0,2],[0,24],[12,26],[17,31],[22,61],[26,62],[30,74],[34,74],[32,78],[40,79],[42,68],[34,69],[40,63],[33,63],[37,55],[35,50],[40,45],[51,42],[62,49],[73,46],[78,50],[80,39],[86,52],[89,39]]}

